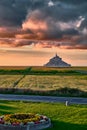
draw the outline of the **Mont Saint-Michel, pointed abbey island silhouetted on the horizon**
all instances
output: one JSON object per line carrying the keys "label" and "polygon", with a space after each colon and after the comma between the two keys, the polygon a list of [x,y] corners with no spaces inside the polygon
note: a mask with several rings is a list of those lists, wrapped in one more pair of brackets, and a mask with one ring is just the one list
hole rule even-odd
{"label": "Mont Saint-Michel, pointed abbey island silhouetted on the horizon", "polygon": [[62,60],[57,54],[51,58],[48,63],[44,66],[46,67],[70,67],[71,65]]}

